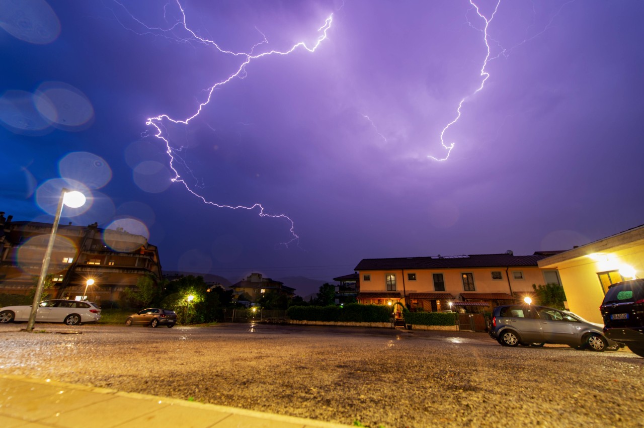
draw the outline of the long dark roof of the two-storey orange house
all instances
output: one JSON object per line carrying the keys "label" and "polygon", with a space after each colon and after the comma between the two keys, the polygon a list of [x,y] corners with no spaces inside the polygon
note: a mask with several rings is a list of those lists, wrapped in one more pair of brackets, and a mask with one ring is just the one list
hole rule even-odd
{"label": "long dark roof of the two-storey orange house", "polygon": [[537,266],[542,255],[471,254],[469,256],[398,257],[394,259],[362,259],[355,270],[401,270],[446,268],[506,268]]}

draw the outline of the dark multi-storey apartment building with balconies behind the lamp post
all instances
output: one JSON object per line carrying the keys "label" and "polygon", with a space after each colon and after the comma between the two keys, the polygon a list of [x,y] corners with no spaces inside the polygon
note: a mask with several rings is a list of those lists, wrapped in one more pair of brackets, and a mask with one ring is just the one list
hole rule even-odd
{"label": "dark multi-storey apartment building with balconies behind the lamp post", "polygon": [[[12,221],[0,212],[0,293],[28,294],[35,288],[43,266],[51,223]],[[48,274],[50,297],[117,301],[138,278],[162,278],[158,249],[146,237],[126,230],[59,225]],[[87,286],[88,279],[94,283]],[[87,293],[85,290],[87,289]]]}

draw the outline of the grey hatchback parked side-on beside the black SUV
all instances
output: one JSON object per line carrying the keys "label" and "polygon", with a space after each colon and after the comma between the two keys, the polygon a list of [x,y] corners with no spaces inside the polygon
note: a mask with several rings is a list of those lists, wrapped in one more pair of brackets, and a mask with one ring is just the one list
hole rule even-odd
{"label": "grey hatchback parked side-on beside the black SUV", "polygon": [[543,346],[551,343],[589,348],[592,351],[620,346],[607,339],[598,324],[583,321],[573,313],[529,304],[494,308],[488,333],[503,346]]}

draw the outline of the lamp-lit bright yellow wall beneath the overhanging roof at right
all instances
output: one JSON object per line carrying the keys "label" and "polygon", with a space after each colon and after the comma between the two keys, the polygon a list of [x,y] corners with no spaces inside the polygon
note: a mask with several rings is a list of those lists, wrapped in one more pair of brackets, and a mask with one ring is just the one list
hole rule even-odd
{"label": "lamp-lit bright yellow wall beneath the overhanging roof at right", "polygon": [[[604,297],[598,274],[611,270],[619,270],[624,266],[634,268],[637,277],[644,272],[644,241],[603,247],[588,245],[589,248],[578,248],[571,259],[544,259],[547,267],[556,267],[564,286],[568,307],[581,317],[592,322],[603,324],[599,307]],[[565,254],[565,253],[564,253]],[[540,263],[542,265],[542,263]],[[544,265],[542,265],[544,266]],[[626,277],[625,279],[630,279]]]}

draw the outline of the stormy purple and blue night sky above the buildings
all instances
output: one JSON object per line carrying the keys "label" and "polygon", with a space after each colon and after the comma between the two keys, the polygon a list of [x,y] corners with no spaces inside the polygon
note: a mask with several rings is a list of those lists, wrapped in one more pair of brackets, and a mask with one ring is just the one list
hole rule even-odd
{"label": "stormy purple and blue night sky above the buildings", "polygon": [[232,280],[644,223],[644,2],[475,3],[0,0],[0,210]]}

